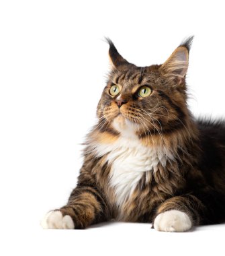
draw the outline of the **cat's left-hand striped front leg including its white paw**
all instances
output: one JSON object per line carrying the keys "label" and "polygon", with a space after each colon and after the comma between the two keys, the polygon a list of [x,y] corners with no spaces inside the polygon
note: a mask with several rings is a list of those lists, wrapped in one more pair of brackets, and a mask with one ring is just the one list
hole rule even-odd
{"label": "cat's left-hand striped front leg including its white paw", "polygon": [[74,229],[107,220],[103,197],[93,187],[77,187],[67,205],[49,212],[42,220],[43,228]]}

